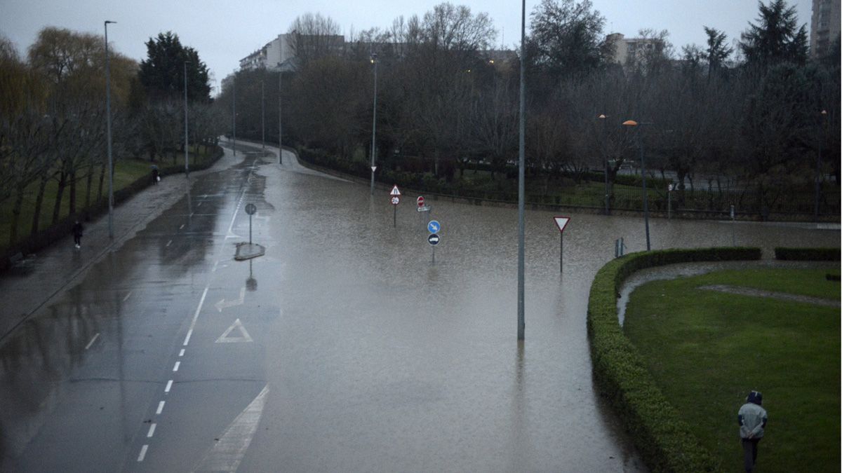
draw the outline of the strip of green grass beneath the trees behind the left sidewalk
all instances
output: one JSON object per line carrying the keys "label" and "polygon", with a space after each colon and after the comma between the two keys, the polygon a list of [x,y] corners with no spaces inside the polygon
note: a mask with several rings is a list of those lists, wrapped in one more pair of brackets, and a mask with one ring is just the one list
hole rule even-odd
{"label": "strip of green grass beneath the trees behind the left sidewalk", "polygon": [[[195,151],[194,147],[190,150],[190,163],[203,162],[210,157],[210,150],[205,150],[204,146],[200,147],[200,153]],[[157,161],[159,167],[167,167],[173,165],[172,157],[166,157]],[[184,154],[179,153],[176,157],[176,165],[184,166]],[[114,166],[114,189],[115,191],[124,188],[136,181],[136,179],[147,176],[152,182],[152,162],[148,159],[120,159],[115,162]],[[24,196],[24,205],[21,208],[21,215],[18,224],[18,238],[19,240],[29,236],[29,230],[32,226],[32,217],[35,213],[35,198],[38,192],[39,183],[32,183],[26,191]],[[87,178],[83,178],[77,183],[76,204],[77,211],[82,211],[85,205],[85,192],[87,186]],[[96,193],[99,186],[99,167],[94,170],[93,182],[91,183],[91,201],[96,200]],[[44,203],[41,205],[39,230],[51,226],[53,206],[56,203],[56,192],[58,191],[58,183],[51,181],[47,183],[44,192]],[[108,195],[108,178],[103,182],[103,198],[107,199]],[[6,250],[9,246],[9,233],[11,226],[12,207],[14,205],[14,197],[7,199],[0,204],[0,252]],[[70,211],[70,187],[64,189],[64,195],[61,199],[61,210],[59,210],[59,219],[61,220],[68,215]]]}

